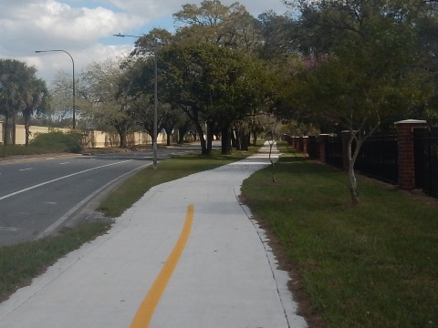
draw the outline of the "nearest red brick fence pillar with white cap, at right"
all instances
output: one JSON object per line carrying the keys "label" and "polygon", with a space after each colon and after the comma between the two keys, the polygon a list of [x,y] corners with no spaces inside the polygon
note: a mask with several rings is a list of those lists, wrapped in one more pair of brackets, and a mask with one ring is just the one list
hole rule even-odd
{"label": "nearest red brick fence pillar with white cap, at right", "polygon": [[412,128],[424,128],[426,121],[408,119],[395,122],[397,128],[399,150],[399,188],[412,190],[415,188],[415,159],[413,152]]}

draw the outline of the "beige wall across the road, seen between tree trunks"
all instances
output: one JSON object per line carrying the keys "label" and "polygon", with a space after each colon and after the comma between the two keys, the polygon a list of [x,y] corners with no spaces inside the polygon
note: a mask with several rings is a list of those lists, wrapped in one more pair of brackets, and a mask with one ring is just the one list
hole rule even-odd
{"label": "beige wall across the road, seen between tree trunks", "polygon": [[[47,128],[47,127],[30,127],[30,137],[35,138],[36,133],[47,133],[49,131],[70,131],[69,128]],[[3,144],[3,122],[0,121],[0,144]],[[166,143],[166,134],[160,133],[157,141],[159,144]],[[151,136],[146,132],[133,132],[128,135],[128,146],[151,145]],[[24,125],[16,125],[16,145],[26,144],[26,130]],[[86,131],[84,133],[84,144],[86,148],[108,148],[119,147],[120,138],[118,133],[109,133],[103,131]]]}

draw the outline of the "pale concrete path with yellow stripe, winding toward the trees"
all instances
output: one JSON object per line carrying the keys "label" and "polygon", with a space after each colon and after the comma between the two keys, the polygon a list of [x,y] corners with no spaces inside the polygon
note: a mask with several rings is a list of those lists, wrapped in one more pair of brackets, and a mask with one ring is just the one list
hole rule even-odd
{"label": "pale concrete path with yellow stripe, winding toward the trees", "polygon": [[237,198],[268,149],[152,188],[108,234],[0,303],[0,327],[305,327]]}

